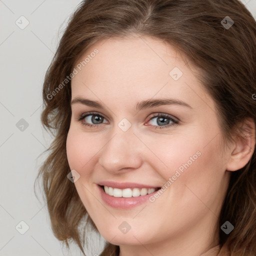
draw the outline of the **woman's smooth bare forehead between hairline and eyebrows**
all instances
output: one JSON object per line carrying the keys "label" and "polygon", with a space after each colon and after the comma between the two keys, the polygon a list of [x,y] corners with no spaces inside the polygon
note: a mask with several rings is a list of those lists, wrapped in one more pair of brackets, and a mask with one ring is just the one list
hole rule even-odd
{"label": "woman's smooth bare forehead between hairline and eyebrows", "polygon": [[109,98],[124,103],[131,98],[137,102],[171,96],[194,106],[212,101],[195,77],[196,68],[191,69],[170,44],[154,37],[97,41],[75,68],[78,73],[71,81],[72,98],[89,94],[94,100]]}

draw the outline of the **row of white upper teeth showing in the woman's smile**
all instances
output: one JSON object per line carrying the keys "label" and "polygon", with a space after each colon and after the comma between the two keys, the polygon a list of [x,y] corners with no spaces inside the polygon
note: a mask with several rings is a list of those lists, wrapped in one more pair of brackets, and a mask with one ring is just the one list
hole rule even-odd
{"label": "row of white upper teeth showing in the woman's smile", "polygon": [[112,195],[114,197],[136,197],[139,195],[146,195],[153,193],[156,188],[113,188],[110,186],[104,186],[104,191],[106,194]]}

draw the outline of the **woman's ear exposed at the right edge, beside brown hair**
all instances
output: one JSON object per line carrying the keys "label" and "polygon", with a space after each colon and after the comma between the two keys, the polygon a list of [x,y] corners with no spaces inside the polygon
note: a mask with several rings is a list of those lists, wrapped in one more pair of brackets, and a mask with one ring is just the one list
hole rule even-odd
{"label": "woman's ear exposed at the right edge, beside brown hair", "polygon": [[[241,123],[241,133],[236,135],[230,147],[230,155],[226,170],[238,170],[250,160],[255,147],[255,123],[252,118],[246,118]],[[238,129],[239,130],[239,129]]]}

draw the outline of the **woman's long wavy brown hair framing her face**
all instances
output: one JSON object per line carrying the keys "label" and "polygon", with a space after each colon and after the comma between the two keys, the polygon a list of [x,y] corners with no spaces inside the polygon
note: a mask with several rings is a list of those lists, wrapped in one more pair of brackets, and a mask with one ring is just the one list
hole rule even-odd
{"label": "woman's long wavy brown hair framing her face", "polygon": [[[229,16],[234,24],[224,27]],[[226,23],[226,22],[225,22]],[[205,89],[217,106],[223,138],[245,117],[256,119],[256,22],[238,0],[85,0],[69,19],[43,83],[41,121],[54,134],[39,169],[51,228],[57,239],[73,239],[84,254],[79,227],[96,226],[88,216],[75,186],[66,156],[70,124],[69,75],[77,59],[99,39],[129,34],[162,39],[199,68]],[[52,93],[55,91],[55,93]],[[53,96],[54,94],[54,96]],[[243,133],[240,132],[240,136]],[[239,133],[237,133],[239,135]],[[219,216],[219,244],[231,256],[256,255],[256,156],[231,173]],[[84,224],[82,219],[86,217]],[[220,226],[228,220],[234,229],[226,235]],[[100,255],[118,255],[119,247],[106,242]]]}

